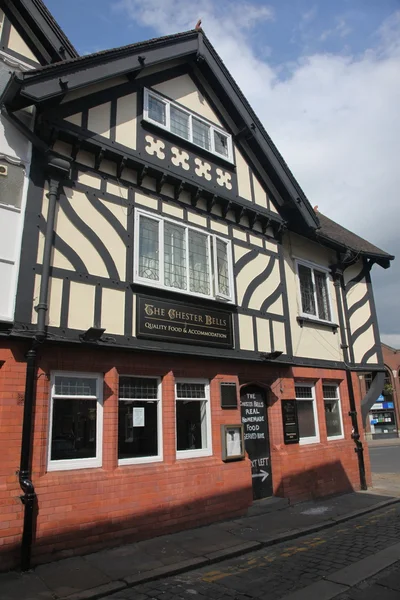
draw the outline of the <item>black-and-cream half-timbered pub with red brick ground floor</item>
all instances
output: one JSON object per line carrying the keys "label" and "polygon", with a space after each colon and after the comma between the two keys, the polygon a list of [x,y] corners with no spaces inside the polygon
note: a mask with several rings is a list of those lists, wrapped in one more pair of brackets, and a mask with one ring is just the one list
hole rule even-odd
{"label": "black-and-cream half-timbered pub with red brick ground floor", "polygon": [[21,535],[27,568],[365,487],[369,273],[393,257],[312,209],[201,30],[78,57],[40,0],[0,6],[41,65],[1,96],[32,143],[0,331],[2,564]]}

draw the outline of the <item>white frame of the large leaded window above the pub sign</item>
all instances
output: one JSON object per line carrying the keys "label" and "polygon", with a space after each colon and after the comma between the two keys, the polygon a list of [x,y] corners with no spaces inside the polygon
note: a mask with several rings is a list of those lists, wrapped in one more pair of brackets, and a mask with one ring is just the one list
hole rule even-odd
{"label": "white frame of the large leaded window above the pub sign", "polygon": [[[139,242],[140,242],[140,217],[144,216],[149,219],[153,219],[154,221],[158,221],[159,229],[158,229],[158,259],[159,259],[159,279],[146,279],[145,277],[140,277],[139,275]],[[164,223],[169,222],[177,225],[178,227],[183,227],[185,229],[186,236],[186,277],[187,277],[187,289],[180,289],[176,287],[167,286],[164,284]],[[200,233],[205,235],[208,239],[208,269],[210,273],[210,294],[201,294],[200,292],[192,292],[189,289],[189,230],[195,231],[196,233]],[[228,269],[229,269],[229,287],[231,295],[228,297],[226,295],[220,294],[218,290],[218,271],[216,268],[216,242],[213,240],[220,239],[224,243],[227,244],[227,254],[228,254]],[[233,260],[232,260],[232,242],[229,239],[223,238],[221,236],[214,235],[209,233],[206,230],[198,229],[197,227],[192,227],[191,225],[184,223],[183,221],[175,221],[174,219],[170,219],[168,217],[159,216],[154,213],[147,212],[140,208],[135,209],[135,240],[134,240],[134,272],[133,272],[133,281],[135,283],[141,283],[143,285],[147,285],[150,287],[163,288],[165,290],[170,290],[172,292],[177,292],[178,294],[186,294],[189,296],[195,296],[200,298],[211,298],[217,300],[223,300],[229,304],[234,304],[235,295],[234,295],[234,285],[233,285]]]}

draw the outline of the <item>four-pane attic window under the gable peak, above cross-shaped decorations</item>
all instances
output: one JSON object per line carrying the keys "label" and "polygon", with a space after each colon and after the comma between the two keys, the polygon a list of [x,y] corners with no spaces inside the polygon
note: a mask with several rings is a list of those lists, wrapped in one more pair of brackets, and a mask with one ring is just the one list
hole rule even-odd
{"label": "four-pane attic window under the gable peak, above cross-shaped decorations", "polygon": [[171,133],[233,162],[232,137],[220,127],[156,92],[144,90],[144,118]]}

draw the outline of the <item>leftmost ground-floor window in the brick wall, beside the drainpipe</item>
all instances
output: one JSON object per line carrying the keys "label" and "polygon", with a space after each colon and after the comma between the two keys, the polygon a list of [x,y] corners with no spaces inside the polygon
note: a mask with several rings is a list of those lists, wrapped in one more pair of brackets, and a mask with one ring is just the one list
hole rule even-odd
{"label": "leftmost ground-floor window in the brick wall, beside the drainpipe", "polygon": [[101,467],[102,375],[52,373],[49,421],[49,471]]}

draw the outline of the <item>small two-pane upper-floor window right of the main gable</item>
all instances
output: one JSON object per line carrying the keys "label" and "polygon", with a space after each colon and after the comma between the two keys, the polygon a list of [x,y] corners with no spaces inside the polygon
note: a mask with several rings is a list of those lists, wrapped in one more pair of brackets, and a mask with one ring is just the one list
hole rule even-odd
{"label": "small two-pane upper-floor window right of the main gable", "polygon": [[305,317],[332,322],[329,294],[329,270],[312,263],[297,261],[301,314]]}

